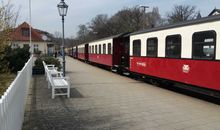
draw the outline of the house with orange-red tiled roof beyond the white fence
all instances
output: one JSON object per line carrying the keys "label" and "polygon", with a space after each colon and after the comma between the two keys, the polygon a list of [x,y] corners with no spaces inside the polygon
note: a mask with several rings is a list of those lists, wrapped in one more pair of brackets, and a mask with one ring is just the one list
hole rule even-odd
{"label": "house with orange-red tiled roof beyond the white fence", "polygon": [[[34,53],[50,54],[54,53],[54,44],[51,35],[48,32],[34,29],[31,27],[32,47]],[[29,24],[24,22],[15,28],[12,32],[12,48],[23,48],[29,46],[30,30]]]}

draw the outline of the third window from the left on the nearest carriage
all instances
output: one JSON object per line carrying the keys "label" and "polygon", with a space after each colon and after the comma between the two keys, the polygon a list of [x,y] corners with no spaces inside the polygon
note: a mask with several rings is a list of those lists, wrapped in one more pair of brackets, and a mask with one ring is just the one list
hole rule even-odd
{"label": "third window from the left on the nearest carriage", "polygon": [[166,37],[166,57],[180,58],[181,57],[181,36],[172,35]]}

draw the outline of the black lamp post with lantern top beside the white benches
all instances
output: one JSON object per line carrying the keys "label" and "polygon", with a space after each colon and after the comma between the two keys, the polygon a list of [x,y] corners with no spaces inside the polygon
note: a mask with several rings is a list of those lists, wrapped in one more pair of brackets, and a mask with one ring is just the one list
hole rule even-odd
{"label": "black lamp post with lantern top beside the white benches", "polygon": [[63,29],[63,38],[62,38],[62,56],[63,56],[63,76],[65,76],[65,46],[64,46],[64,16],[67,14],[68,5],[61,0],[61,2],[57,5],[60,16],[62,17],[62,29]]}

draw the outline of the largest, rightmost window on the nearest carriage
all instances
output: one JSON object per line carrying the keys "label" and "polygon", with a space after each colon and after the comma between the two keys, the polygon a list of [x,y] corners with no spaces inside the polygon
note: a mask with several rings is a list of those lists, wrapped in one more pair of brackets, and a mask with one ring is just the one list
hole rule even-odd
{"label": "largest, rightmost window on the nearest carriage", "polygon": [[212,60],[215,58],[216,32],[195,32],[192,38],[192,58]]}

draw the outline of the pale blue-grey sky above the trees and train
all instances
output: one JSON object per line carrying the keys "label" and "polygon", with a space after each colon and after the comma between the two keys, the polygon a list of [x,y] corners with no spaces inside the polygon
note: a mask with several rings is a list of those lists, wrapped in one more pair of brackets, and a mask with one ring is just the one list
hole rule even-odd
{"label": "pale blue-grey sky above the trees and train", "polygon": [[[8,0],[1,0],[7,2]],[[61,31],[61,17],[58,14],[57,4],[60,0],[31,0],[32,1],[32,26],[37,29],[54,34]],[[78,25],[88,23],[97,14],[112,16],[124,7],[148,5],[158,7],[160,14],[170,11],[173,5],[194,5],[200,10],[202,16],[208,15],[214,8],[220,9],[220,0],[65,0],[69,5],[65,17],[66,37],[75,36]],[[16,9],[20,8],[17,24],[29,22],[29,0],[11,0]]]}

